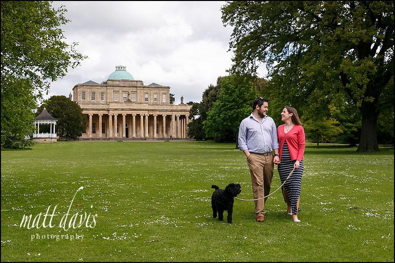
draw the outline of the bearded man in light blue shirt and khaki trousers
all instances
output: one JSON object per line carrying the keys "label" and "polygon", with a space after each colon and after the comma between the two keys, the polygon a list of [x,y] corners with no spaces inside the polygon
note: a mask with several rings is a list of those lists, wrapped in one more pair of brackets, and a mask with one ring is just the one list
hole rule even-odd
{"label": "bearded man in light blue shirt and khaki trousers", "polygon": [[[270,192],[274,164],[280,158],[278,154],[277,128],[268,112],[268,101],[262,97],[254,100],[253,112],[243,119],[238,130],[238,148],[247,156],[250,169],[254,199],[264,197]],[[275,151],[275,157],[272,151]],[[257,222],[265,221],[266,199],[255,200]]]}

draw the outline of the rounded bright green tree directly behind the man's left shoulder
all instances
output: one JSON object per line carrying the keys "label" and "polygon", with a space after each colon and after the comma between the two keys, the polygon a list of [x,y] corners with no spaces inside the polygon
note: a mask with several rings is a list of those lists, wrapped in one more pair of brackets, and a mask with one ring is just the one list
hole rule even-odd
{"label": "rounded bright green tree directly behind the man's left shoulder", "polygon": [[203,127],[207,137],[216,142],[234,142],[238,126],[252,111],[252,101],[257,97],[253,83],[235,75],[223,77],[219,82],[221,92],[213,103]]}

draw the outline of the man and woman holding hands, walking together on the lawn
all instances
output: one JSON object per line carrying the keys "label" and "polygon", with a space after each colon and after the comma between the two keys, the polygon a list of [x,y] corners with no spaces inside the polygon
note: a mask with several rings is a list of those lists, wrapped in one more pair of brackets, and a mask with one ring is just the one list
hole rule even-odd
{"label": "man and woman holding hands, walking together on the lawn", "polygon": [[[265,202],[272,184],[274,165],[277,164],[281,184],[290,172],[292,175],[282,187],[287,214],[293,222],[298,219],[300,189],[305,151],[305,131],[295,108],[286,106],[281,112],[284,124],[276,128],[273,118],[267,115],[268,101],[256,98],[253,112],[243,119],[238,131],[238,146],[247,157],[255,200],[257,222],[265,221]],[[273,156],[272,152],[275,152]]]}

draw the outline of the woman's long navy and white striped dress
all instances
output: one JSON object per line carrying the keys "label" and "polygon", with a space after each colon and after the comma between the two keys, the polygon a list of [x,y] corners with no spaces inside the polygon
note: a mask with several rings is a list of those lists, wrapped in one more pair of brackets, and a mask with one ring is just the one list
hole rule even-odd
{"label": "woman's long navy and white striped dress", "polygon": [[[278,175],[280,176],[281,184],[284,183],[289,173],[292,171],[296,160],[292,161],[289,155],[287,142],[284,142],[282,149],[281,162],[277,165]],[[300,185],[302,182],[303,174],[303,160],[300,162],[299,168],[293,171],[292,175],[285,182],[283,188],[288,195],[289,201],[291,202],[292,215],[298,213],[296,203],[300,196]]]}

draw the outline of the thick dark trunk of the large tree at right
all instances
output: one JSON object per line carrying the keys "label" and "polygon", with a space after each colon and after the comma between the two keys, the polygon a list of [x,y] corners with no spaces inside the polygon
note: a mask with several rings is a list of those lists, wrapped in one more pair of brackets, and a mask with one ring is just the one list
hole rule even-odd
{"label": "thick dark trunk of the large tree at right", "polygon": [[363,102],[360,107],[362,113],[362,130],[357,152],[379,151],[377,145],[377,117],[374,103]]}

